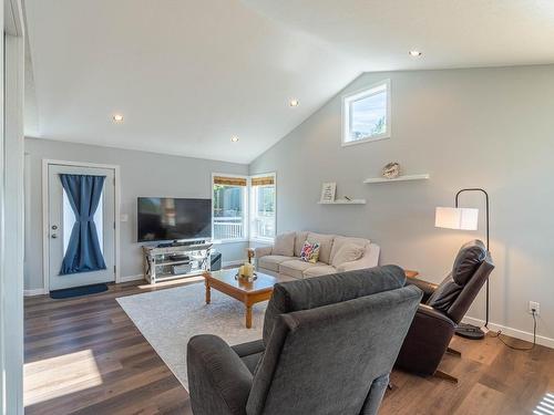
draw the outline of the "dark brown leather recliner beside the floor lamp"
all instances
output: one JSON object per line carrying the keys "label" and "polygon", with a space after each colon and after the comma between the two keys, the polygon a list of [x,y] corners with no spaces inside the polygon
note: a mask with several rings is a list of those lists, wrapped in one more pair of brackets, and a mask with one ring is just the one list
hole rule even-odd
{"label": "dark brown leather recliner beside the floor lamp", "polygon": [[[423,291],[423,300],[404,339],[396,366],[422,376],[433,375],[456,325],[494,269],[480,240],[460,248],[452,271],[439,284],[408,279]],[[447,375],[447,378],[455,381]]]}

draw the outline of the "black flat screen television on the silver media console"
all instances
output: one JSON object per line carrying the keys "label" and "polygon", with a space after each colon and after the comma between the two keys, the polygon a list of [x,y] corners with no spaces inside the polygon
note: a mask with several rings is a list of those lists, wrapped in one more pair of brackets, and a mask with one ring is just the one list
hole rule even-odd
{"label": "black flat screen television on the silver media console", "polygon": [[212,238],[212,200],[140,197],[138,242]]}

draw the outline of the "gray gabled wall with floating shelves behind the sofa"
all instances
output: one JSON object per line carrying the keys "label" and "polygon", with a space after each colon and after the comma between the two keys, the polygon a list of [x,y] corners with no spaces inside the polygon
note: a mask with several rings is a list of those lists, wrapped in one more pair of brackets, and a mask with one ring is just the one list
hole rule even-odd
{"label": "gray gabled wall with floating shelves behind the sofa", "polygon": [[[541,303],[538,331],[554,338],[554,66],[367,73],[343,92],[390,79],[392,137],[340,146],[338,94],[250,165],[277,172],[278,231],[314,229],[367,237],[382,263],[440,281],[461,243],[476,232],[434,228],[434,208],[458,189],[491,196],[491,320],[532,331],[530,300]],[[365,185],[397,160],[428,181]],[[322,181],[365,206],[320,206]],[[461,203],[481,208],[479,196]],[[470,315],[484,318],[484,295]],[[552,343],[554,344],[554,343]]]}

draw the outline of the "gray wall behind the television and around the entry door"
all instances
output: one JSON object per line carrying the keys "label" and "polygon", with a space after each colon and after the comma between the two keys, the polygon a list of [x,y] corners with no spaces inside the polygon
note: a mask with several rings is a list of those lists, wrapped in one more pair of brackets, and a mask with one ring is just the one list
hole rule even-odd
{"label": "gray wall behind the television and around the entry door", "polygon": [[[28,230],[25,290],[43,288],[42,280],[42,159],[86,162],[121,167],[121,276],[142,273],[141,246],[136,243],[136,197],[211,197],[212,173],[248,173],[248,166],[199,158],[25,138]],[[216,248],[224,261],[245,257],[247,243],[225,243]]]}

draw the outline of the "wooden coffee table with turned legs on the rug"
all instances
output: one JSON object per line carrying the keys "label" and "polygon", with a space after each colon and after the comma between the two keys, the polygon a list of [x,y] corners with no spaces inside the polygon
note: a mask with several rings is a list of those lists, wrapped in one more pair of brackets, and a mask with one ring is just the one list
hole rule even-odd
{"label": "wooden coffee table with turned legs on the rug", "polygon": [[235,276],[238,269],[204,272],[206,283],[206,304],[212,301],[211,290],[217,290],[233,297],[246,305],[246,328],[252,328],[252,307],[261,301],[267,301],[274,292],[277,279],[257,272],[258,278],[253,282],[238,281]]}

